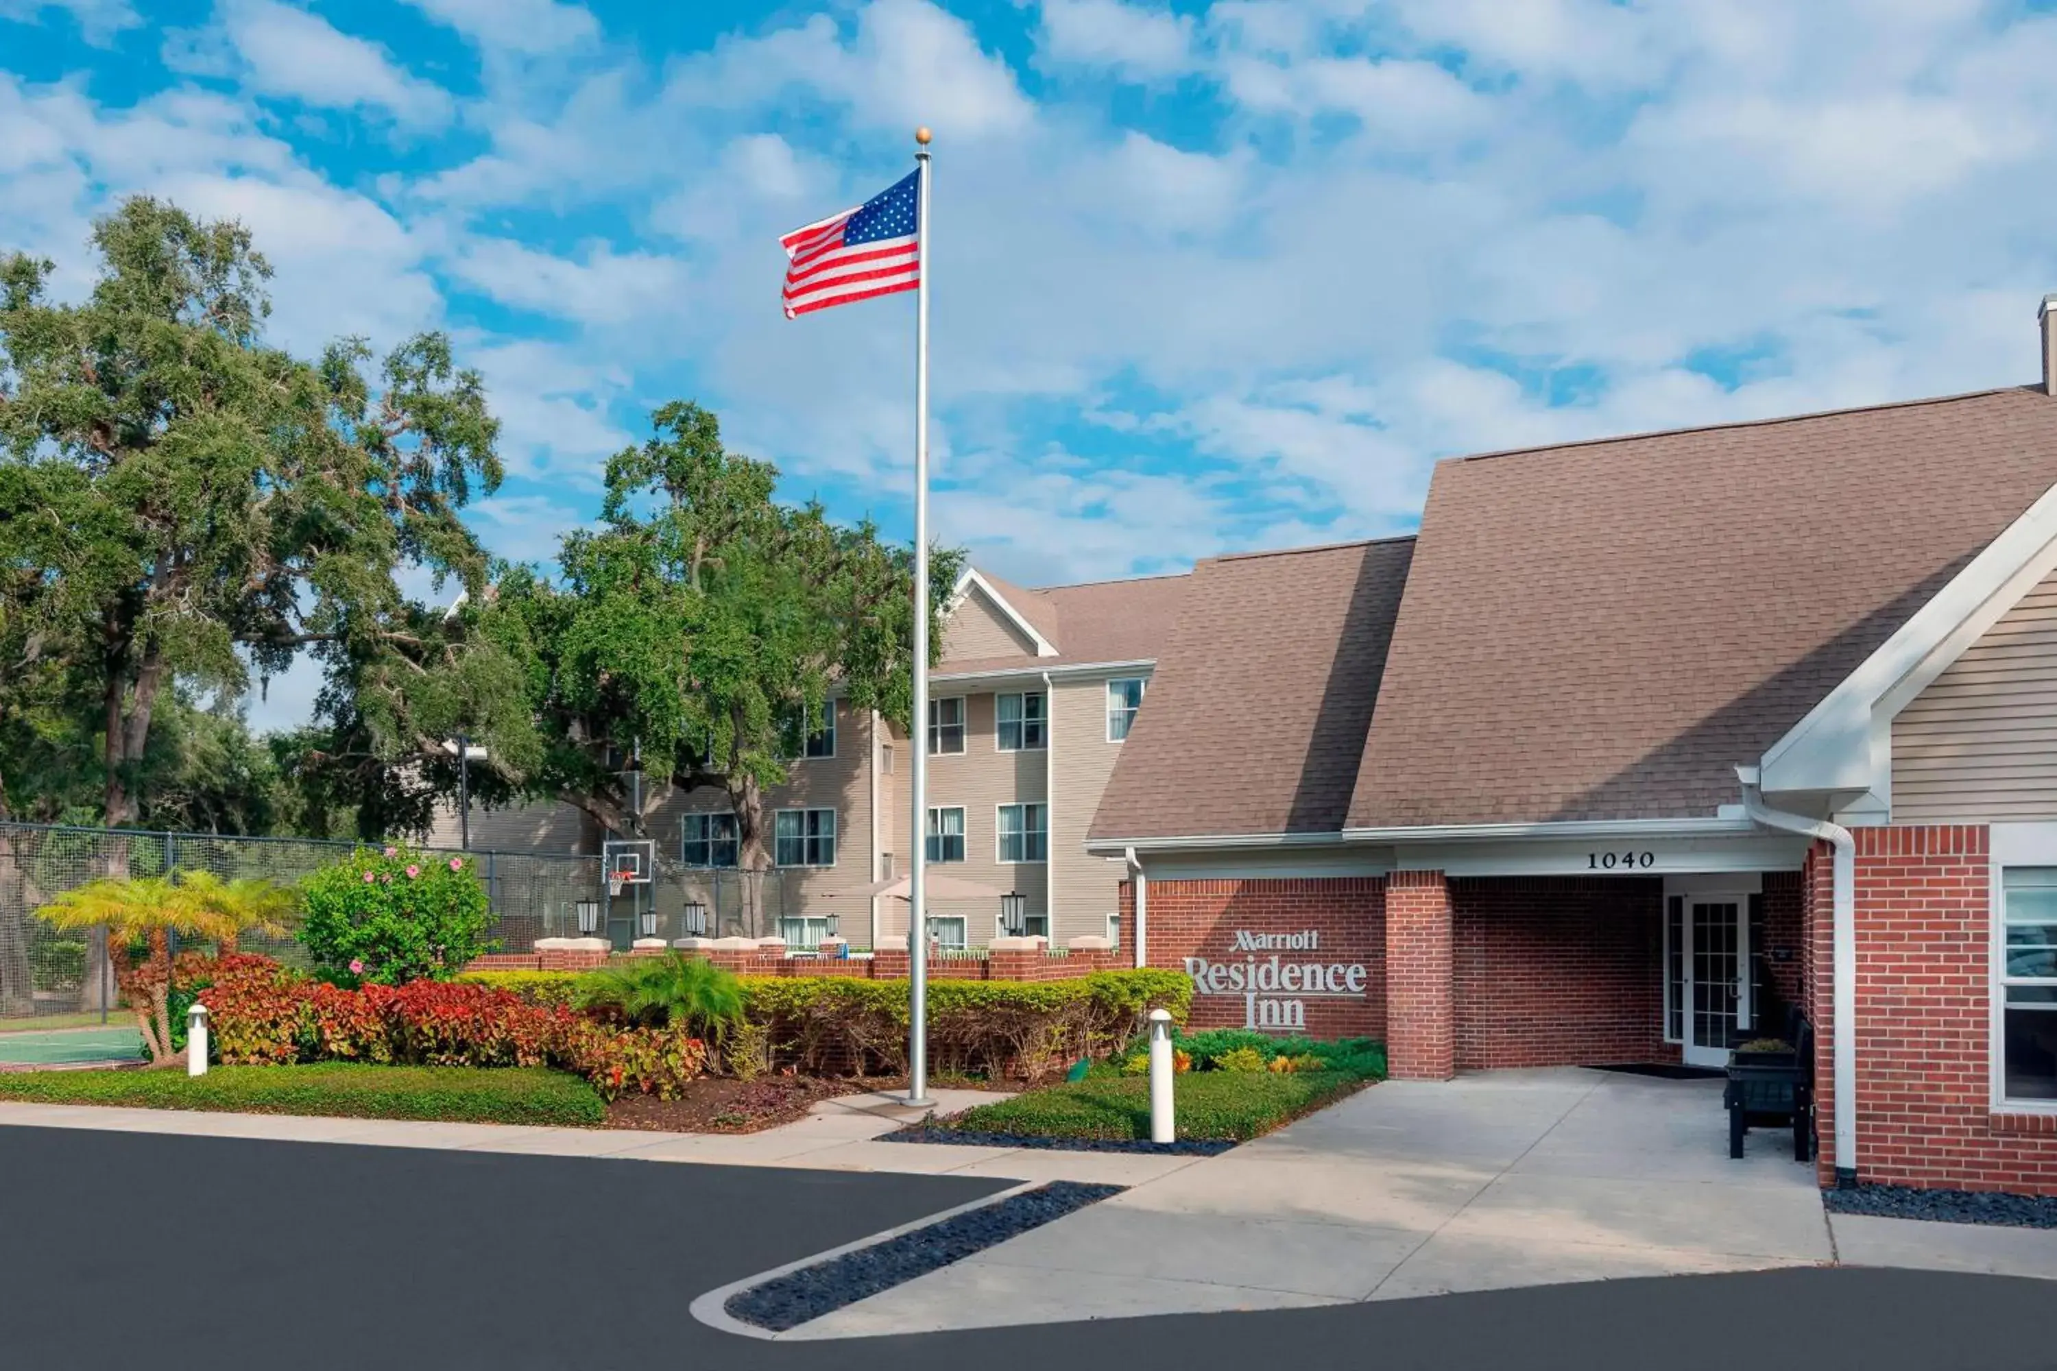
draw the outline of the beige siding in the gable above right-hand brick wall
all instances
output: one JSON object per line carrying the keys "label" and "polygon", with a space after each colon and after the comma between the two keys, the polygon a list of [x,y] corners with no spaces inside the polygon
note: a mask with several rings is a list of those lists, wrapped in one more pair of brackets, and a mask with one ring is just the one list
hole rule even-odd
{"label": "beige siding in the gable above right-hand brick wall", "polygon": [[2057,573],[1892,721],[1892,822],[2057,818]]}

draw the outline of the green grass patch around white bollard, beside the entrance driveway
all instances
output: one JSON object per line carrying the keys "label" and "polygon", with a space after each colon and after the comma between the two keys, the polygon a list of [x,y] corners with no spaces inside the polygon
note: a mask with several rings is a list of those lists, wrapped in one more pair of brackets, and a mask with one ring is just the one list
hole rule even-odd
{"label": "green grass patch around white bollard, beside the entrance driveway", "polygon": [[[1368,1079],[1349,1071],[1191,1071],[1172,1081],[1179,1137],[1247,1143],[1341,1100]],[[1051,1085],[981,1104],[938,1122],[979,1133],[1146,1141],[1150,1079],[1094,1075],[1076,1085]]]}

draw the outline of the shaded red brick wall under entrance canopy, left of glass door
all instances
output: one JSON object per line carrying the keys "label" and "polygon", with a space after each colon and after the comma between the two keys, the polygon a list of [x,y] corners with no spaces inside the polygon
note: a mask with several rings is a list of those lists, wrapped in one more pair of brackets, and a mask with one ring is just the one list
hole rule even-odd
{"label": "shaded red brick wall under entrance canopy, left of glass door", "polygon": [[1450,909],[1458,1069],[1679,1059],[1660,878],[1458,878]]}

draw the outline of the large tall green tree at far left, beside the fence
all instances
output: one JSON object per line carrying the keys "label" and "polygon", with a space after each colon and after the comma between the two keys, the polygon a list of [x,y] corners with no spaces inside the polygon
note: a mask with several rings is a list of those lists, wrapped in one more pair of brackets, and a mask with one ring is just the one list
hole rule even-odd
{"label": "large tall green tree at far left, beside the fence", "polygon": [[368,697],[453,670],[463,643],[395,573],[483,590],[457,510],[500,481],[498,423],[440,335],[376,380],[356,339],[319,362],[263,343],[269,265],[237,222],[132,197],[93,247],[78,304],[47,296],[51,263],[0,261],[0,623],[68,654],[123,826],[175,682],[234,699],[311,647],[391,717]]}

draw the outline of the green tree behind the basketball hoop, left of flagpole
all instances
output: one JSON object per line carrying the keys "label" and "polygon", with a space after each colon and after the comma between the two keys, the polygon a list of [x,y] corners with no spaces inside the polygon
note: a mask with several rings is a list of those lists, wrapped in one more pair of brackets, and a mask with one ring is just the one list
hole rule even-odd
{"label": "green tree behind the basketball hoop, left of flagpole", "polygon": [[[644,810],[673,785],[722,787],[738,861],[761,874],[763,795],[788,775],[794,721],[819,719],[833,689],[850,713],[909,724],[913,551],[780,504],[778,469],[728,452],[699,405],[664,405],[654,428],[609,458],[601,526],[564,539],[562,584],[510,569],[477,633],[527,682],[541,730],[527,793],[640,835],[634,769]],[[961,565],[930,559],[938,647]]]}

